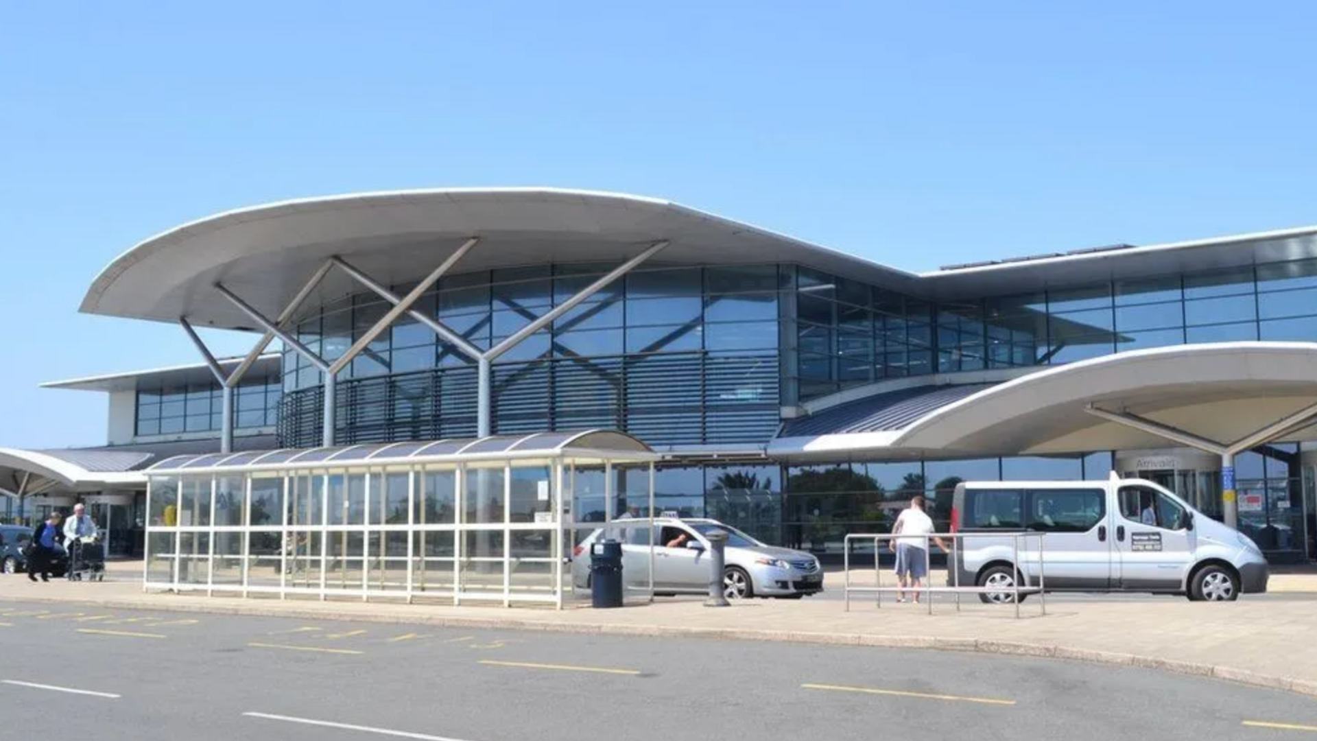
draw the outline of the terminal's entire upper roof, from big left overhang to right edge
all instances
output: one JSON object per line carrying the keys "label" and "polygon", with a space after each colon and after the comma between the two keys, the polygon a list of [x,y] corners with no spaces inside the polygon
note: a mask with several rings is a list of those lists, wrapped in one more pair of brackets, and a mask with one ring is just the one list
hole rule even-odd
{"label": "terminal's entire upper roof, from big left overhang to right edge", "polygon": [[[798,262],[923,298],[982,298],[1317,256],[1317,227],[1164,245],[1075,251],[913,274],[669,200],[548,187],[437,189],[287,200],[227,211],[153,236],[111,262],[82,311],[249,328],[224,282],[278,314],[338,254],[385,283],[420,280],[468,237],[456,273],[554,262],[622,262],[668,241],[651,264]],[[360,287],[332,272],[312,302]]]}

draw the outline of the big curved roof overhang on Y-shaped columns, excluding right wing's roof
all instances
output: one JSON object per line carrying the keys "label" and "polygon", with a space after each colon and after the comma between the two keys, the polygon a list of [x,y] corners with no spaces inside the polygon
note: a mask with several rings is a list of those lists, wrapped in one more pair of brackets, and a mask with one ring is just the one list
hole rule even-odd
{"label": "big curved roof overhang on Y-shaped columns, excluding right wing's roof", "polygon": [[[876,285],[902,273],[668,200],[561,189],[441,189],[286,200],[240,208],[153,236],[96,277],[82,311],[246,327],[213,283],[277,314],[329,256],[386,283],[431,272],[468,237],[454,272],[545,261],[618,262],[666,240],[662,262],[799,261]],[[357,293],[332,272],[320,298]]]}

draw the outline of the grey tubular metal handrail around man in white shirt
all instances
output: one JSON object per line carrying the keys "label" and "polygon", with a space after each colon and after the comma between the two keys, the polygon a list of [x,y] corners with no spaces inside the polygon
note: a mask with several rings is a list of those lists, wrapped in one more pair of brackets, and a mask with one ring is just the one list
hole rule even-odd
{"label": "grey tubular metal handrail around man in white shirt", "polygon": [[[952,593],[956,596],[956,612],[960,612],[960,595],[988,595],[988,593],[1001,593],[1004,589],[997,587],[961,587],[960,585],[960,568],[956,563],[956,556],[959,551],[959,545],[967,538],[1011,538],[1013,542],[1013,558],[1011,567],[1015,570],[1014,589],[1011,592],[1015,597],[1015,617],[1019,617],[1019,599],[1022,595],[1038,595],[1039,607],[1042,608],[1042,614],[1047,614],[1047,575],[1044,574],[1043,564],[1046,563],[1044,556],[1044,539],[1046,533],[928,533],[927,535],[902,535],[892,533],[849,533],[842,541],[843,547],[843,568],[844,568],[844,583],[843,593],[846,597],[846,612],[851,612],[851,592],[873,592],[877,595],[876,605],[882,607],[884,592],[915,592],[926,593],[928,596],[928,614],[932,614],[932,595],[935,593]],[[885,541],[894,541],[897,538],[923,538],[923,558],[925,558],[925,579],[927,580],[926,587],[910,588],[910,587],[884,587],[882,585],[882,568],[878,566],[878,545]],[[952,550],[947,551],[950,558],[947,570],[952,575],[951,587],[934,587],[931,578],[931,554],[932,554],[932,541],[934,539],[950,539]],[[1029,584],[1030,576],[1025,572],[1025,566],[1019,560],[1021,545],[1029,538],[1038,539],[1038,585]],[[873,541],[873,587],[861,587],[851,583],[851,541]],[[1027,547],[1026,547],[1027,552]]]}

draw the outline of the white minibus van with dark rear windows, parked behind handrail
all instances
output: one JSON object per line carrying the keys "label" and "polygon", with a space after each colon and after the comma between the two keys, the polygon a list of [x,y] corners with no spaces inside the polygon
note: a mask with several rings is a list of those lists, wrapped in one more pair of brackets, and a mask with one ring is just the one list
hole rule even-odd
{"label": "white minibus van with dark rear windows, parked behind handrail", "polygon": [[[992,534],[1044,533],[1046,589],[1156,592],[1227,601],[1267,591],[1267,559],[1239,531],[1196,512],[1151,481],[967,481],[951,509],[957,539],[947,583],[1001,587],[980,595],[1010,603],[1017,539]],[[1019,539],[1025,581],[1038,585],[1038,538]]]}

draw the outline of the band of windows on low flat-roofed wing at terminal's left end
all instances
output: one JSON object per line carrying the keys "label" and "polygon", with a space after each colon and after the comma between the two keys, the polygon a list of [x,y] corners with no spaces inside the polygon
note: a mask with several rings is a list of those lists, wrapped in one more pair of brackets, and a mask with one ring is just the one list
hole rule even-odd
{"label": "band of windows on low flat-roofed wing at terminal's left end", "polygon": [[[137,436],[211,432],[221,427],[223,392],[216,381],[179,384],[167,380],[137,386]],[[274,427],[279,421],[279,378],[253,377],[234,389],[233,426]]]}

